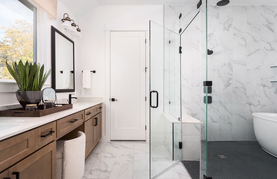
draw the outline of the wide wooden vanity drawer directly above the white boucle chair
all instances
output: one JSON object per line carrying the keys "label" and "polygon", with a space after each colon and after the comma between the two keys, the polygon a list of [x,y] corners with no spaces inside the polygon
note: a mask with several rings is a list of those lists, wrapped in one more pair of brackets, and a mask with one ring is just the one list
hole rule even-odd
{"label": "wide wooden vanity drawer directly above the white boucle chair", "polygon": [[72,131],[84,122],[84,111],[57,120],[57,138]]}

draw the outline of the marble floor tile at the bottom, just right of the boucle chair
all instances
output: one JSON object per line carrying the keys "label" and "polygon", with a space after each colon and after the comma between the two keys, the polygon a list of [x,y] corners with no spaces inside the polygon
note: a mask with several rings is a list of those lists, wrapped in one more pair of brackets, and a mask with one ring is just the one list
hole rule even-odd
{"label": "marble floor tile at the bottom, just right of the boucle chair", "polygon": [[86,178],[109,178],[112,172],[115,158],[99,157]]}

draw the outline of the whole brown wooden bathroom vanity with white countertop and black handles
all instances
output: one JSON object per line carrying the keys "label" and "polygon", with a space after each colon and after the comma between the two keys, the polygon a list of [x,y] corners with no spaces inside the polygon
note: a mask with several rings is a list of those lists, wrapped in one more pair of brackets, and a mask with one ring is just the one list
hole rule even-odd
{"label": "whole brown wooden bathroom vanity with white countertop and black handles", "polygon": [[101,139],[101,121],[100,100],[43,117],[1,117],[0,179],[55,179],[56,141],[84,132],[87,157]]}

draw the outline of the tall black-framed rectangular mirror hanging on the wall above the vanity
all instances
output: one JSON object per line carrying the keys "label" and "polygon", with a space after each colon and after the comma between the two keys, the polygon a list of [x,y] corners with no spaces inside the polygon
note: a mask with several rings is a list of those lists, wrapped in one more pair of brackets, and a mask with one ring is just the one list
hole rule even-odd
{"label": "tall black-framed rectangular mirror hanging on the wall above the vanity", "polygon": [[75,91],[74,41],[51,26],[52,88],[56,92]]}

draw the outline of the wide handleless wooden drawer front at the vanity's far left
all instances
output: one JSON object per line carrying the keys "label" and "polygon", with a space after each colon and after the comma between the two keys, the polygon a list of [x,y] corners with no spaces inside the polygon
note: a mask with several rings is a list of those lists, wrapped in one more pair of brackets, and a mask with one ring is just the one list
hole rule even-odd
{"label": "wide handleless wooden drawer front at the vanity's far left", "polygon": [[0,171],[35,151],[35,130],[0,142]]}

